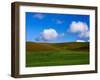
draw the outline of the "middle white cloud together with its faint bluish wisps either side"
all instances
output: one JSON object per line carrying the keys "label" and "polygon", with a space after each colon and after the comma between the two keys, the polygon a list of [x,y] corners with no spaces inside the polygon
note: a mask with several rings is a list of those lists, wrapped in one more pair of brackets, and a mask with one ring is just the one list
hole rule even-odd
{"label": "middle white cloud together with its faint bluish wisps either side", "polygon": [[34,38],[35,41],[52,41],[56,38],[62,38],[65,36],[65,33],[58,33],[55,29],[49,28],[44,29],[40,34]]}

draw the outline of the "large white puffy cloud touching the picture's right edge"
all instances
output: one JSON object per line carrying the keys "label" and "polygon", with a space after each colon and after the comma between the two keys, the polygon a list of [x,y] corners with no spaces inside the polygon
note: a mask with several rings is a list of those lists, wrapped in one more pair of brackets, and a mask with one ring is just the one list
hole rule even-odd
{"label": "large white puffy cloud touching the picture's right edge", "polygon": [[84,22],[76,22],[76,21],[73,21],[70,25],[70,29],[69,29],[70,32],[72,33],[77,33],[79,32],[79,37],[83,37],[83,38],[88,38],[89,37],[89,29],[88,29],[88,25]]}

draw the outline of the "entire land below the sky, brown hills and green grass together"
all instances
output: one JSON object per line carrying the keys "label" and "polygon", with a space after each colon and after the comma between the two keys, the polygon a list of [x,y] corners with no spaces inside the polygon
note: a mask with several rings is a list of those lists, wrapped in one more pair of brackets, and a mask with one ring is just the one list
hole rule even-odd
{"label": "entire land below the sky, brown hills and green grass together", "polygon": [[89,64],[89,43],[26,42],[26,67]]}

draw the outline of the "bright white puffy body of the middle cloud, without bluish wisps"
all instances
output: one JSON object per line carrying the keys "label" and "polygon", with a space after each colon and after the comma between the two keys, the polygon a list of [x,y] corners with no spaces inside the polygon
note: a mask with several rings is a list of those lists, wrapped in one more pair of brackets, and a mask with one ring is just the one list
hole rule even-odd
{"label": "bright white puffy body of the middle cloud, without bluish wisps", "polygon": [[42,32],[42,37],[45,40],[51,40],[51,39],[57,38],[58,37],[58,33],[57,33],[57,31],[55,29],[52,29],[52,28],[45,29]]}

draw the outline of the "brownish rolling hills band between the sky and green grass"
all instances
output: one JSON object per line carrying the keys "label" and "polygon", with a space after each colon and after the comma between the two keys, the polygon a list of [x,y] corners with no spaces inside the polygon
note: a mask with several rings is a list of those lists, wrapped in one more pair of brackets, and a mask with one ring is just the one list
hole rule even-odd
{"label": "brownish rolling hills band between the sky and green grass", "polygon": [[88,42],[66,42],[66,43],[35,43],[26,42],[27,51],[60,51],[60,50],[73,50],[73,51],[88,51]]}

